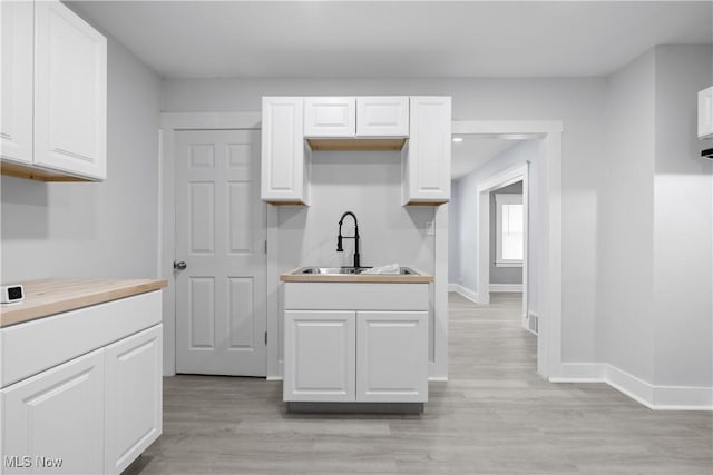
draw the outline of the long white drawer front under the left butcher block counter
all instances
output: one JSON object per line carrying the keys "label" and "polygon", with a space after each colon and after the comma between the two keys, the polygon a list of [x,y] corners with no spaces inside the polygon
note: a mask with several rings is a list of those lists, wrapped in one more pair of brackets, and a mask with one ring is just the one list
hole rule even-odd
{"label": "long white drawer front under the left butcher block counter", "polygon": [[0,329],[0,387],[160,323],[160,291]]}

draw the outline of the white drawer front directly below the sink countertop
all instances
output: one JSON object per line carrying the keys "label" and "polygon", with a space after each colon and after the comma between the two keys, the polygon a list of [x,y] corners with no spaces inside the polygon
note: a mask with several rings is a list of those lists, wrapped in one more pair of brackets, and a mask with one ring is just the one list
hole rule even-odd
{"label": "white drawer front directly below the sink countertop", "polygon": [[285,283],[289,310],[428,310],[429,284]]}

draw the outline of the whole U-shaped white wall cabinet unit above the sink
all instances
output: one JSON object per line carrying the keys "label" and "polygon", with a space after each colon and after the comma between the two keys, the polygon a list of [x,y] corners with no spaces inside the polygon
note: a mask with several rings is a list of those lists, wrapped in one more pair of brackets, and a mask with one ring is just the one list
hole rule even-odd
{"label": "whole U-shaped white wall cabinet unit above the sink", "polygon": [[264,97],[262,133],[267,202],[309,204],[312,150],[401,150],[402,205],[450,200],[450,97]]}

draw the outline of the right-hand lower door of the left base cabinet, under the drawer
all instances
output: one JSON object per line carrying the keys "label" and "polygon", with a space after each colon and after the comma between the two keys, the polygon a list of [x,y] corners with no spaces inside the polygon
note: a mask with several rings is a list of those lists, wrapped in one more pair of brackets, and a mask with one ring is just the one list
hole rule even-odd
{"label": "right-hand lower door of the left base cabinet, under the drawer", "polygon": [[159,324],[106,348],[105,474],[121,473],[162,433],[162,331]]}

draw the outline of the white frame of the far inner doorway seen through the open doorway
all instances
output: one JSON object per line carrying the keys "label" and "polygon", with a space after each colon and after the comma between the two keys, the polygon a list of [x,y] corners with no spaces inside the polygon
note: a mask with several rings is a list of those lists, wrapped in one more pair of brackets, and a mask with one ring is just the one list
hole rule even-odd
{"label": "white frame of the far inner doorway seen through the open doorway", "polygon": [[[490,304],[490,192],[522,180],[522,205],[525,214],[525,249],[522,253],[522,327],[527,328],[527,271],[528,271],[528,247],[529,247],[529,202],[528,202],[528,165],[517,165],[478,182],[478,232],[476,235],[476,246],[478,250],[478,304]],[[482,290],[481,290],[482,289]]]}

